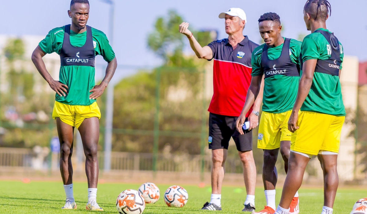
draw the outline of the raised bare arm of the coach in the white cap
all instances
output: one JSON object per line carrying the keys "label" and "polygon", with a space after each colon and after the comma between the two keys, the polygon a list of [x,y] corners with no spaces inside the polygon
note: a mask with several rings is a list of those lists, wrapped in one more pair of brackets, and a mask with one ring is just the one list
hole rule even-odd
{"label": "raised bare arm of the coach in the white cap", "polygon": [[195,52],[196,56],[200,59],[212,59],[213,51],[211,50],[211,48],[209,46],[201,47],[201,45],[196,41],[195,37],[188,29],[188,27],[189,23],[182,22],[181,25],[179,25],[179,32],[188,37],[190,46]]}

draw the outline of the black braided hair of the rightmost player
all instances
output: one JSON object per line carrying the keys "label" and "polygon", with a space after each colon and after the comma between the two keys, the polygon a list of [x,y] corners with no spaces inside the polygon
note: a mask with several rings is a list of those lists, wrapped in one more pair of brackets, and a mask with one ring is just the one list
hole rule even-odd
{"label": "black braided hair of the rightmost player", "polygon": [[303,10],[315,21],[326,21],[331,15],[331,5],[327,0],[307,0]]}

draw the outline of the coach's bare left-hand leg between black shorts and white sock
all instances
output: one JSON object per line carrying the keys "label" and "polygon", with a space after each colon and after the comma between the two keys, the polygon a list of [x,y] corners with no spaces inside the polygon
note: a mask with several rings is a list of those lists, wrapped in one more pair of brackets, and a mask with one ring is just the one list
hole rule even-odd
{"label": "coach's bare left-hand leg between black shorts and white sock", "polygon": [[227,149],[212,149],[211,159],[213,165],[211,167],[211,193],[221,194],[222,183],[224,179],[224,163],[227,159]]}

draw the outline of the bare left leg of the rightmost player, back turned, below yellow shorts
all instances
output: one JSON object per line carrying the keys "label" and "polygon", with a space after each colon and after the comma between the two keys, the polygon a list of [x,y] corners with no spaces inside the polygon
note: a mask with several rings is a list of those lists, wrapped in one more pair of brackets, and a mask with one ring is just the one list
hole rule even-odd
{"label": "bare left leg of the rightmost player, back turned, below yellow shorts", "polygon": [[309,157],[291,152],[288,161],[288,173],[286,181],[284,182],[283,192],[281,193],[281,199],[279,206],[288,209],[295,193],[301,187],[303,175],[305,173],[306,166],[310,161]]}

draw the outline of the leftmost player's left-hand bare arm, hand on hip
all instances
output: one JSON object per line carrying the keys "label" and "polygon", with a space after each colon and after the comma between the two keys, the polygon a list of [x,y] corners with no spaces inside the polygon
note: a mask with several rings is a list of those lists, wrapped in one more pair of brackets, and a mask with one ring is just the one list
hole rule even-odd
{"label": "leftmost player's left-hand bare arm, hand on hip", "polygon": [[42,59],[46,53],[41,49],[40,46],[37,46],[36,49],[34,49],[32,53],[32,62],[34,66],[36,66],[38,72],[41,74],[43,79],[47,81],[47,83],[50,85],[52,90],[56,91],[58,95],[66,96],[68,94],[68,86],[65,84],[60,83],[59,81],[56,81],[52,79],[50,73],[48,73],[46,69],[46,65]]}

